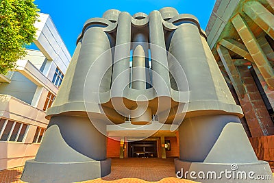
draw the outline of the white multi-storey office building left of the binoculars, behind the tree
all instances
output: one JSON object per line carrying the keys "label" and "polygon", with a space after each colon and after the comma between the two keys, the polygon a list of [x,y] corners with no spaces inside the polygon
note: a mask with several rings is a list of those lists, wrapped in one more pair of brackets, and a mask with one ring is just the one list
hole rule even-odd
{"label": "white multi-storey office building left of the binoculars, behind the tree", "polygon": [[35,26],[38,50],[27,49],[8,75],[0,75],[0,170],[34,159],[49,121],[45,119],[58,93],[71,55],[49,14]]}

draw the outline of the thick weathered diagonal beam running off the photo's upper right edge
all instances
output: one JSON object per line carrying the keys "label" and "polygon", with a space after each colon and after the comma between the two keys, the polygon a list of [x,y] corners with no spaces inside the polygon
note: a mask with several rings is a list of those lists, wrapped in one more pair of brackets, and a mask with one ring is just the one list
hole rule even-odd
{"label": "thick weathered diagonal beam running off the photo's upper right edge", "polygon": [[274,15],[258,1],[247,1],[244,4],[244,12],[261,29],[274,39]]}

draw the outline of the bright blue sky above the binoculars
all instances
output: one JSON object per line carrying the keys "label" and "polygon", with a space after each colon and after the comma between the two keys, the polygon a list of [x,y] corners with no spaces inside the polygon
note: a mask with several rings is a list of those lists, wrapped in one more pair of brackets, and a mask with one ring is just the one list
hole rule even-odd
{"label": "bright blue sky above the binoculars", "polygon": [[160,10],[166,6],[176,8],[179,14],[193,14],[197,16],[201,27],[206,29],[215,0],[112,0],[112,1],[34,1],[40,12],[50,14],[71,56],[75,49],[78,34],[82,31],[84,22],[92,17],[101,17],[109,9],[135,14],[144,12],[149,14],[153,10]]}

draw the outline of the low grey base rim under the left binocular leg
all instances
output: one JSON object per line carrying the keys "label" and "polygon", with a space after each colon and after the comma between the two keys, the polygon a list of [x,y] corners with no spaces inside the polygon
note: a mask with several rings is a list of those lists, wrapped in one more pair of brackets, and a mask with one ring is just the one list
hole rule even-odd
{"label": "low grey base rim under the left binocular leg", "polygon": [[21,180],[25,182],[80,182],[110,173],[111,159],[86,162],[36,162],[27,160]]}

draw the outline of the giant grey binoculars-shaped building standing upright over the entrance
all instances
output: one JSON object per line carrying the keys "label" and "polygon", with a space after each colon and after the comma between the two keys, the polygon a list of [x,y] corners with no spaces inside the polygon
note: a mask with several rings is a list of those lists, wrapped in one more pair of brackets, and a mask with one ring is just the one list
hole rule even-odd
{"label": "giant grey binoculars-shaped building standing upright over the entrance", "polygon": [[132,125],[149,126],[153,116],[179,130],[176,172],[218,175],[232,163],[241,171],[271,172],[256,158],[239,120],[242,110],[199,21],[162,8],[134,16],[108,10],[86,21],[22,180],[76,182],[108,175],[106,126],[121,125],[125,117]]}

